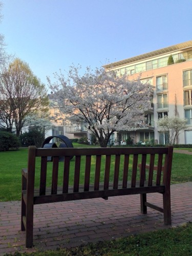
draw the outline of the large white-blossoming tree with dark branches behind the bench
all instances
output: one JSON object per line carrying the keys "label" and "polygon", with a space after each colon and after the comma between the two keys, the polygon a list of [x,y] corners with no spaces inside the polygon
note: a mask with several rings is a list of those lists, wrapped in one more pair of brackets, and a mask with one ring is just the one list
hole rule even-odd
{"label": "large white-blossoming tree with dark branches behind the bench", "polygon": [[140,79],[129,80],[115,71],[103,68],[93,72],[89,67],[79,75],[81,67],[70,68],[68,76],[55,73],[57,81],[51,83],[60,111],[68,114],[72,122],[84,123],[106,146],[115,131],[133,129],[145,110],[151,108],[152,87]]}

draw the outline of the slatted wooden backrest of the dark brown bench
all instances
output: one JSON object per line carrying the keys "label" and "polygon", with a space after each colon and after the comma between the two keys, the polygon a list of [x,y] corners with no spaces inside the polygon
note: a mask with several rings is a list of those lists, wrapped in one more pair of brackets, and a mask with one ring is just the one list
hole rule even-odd
{"label": "slatted wooden backrest of the dark brown bench", "polygon": [[[52,156],[52,163],[48,163],[48,156]],[[71,156],[74,156],[72,160]],[[40,170],[36,166],[35,160],[37,157],[40,157]],[[64,163],[59,162],[59,157],[65,157]],[[103,183],[102,189],[108,189],[110,182],[113,182],[114,189],[119,188],[119,181],[121,181],[121,188],[126,188],[128,182],[131,183],[131,187],[135,187],[136,180],[139,181],[139,186],[142,187],[145,179],[148,186],[153,186],[154,182],[155,185],[170,186],[172,157],[173,146],[112,148],[36,148],[35,146],[29,146],[28,192],[30,190],[33,194],[35,172],[40,172],[39,195],[45,195],[47,170],[50,164],[52,165],[49,168],[52,169],[51,194],[53,195],[57,194],[60,165],[62,166],[63,193],[68,193],[71,183],[71,165],[74,168],[73,184],[71,184],[74,192],[78,192],[80,183],[83,183],[84,191],[89,191],[91,178],[93,179],[91,183],[94,184],[94,190],[99,190],[101,181]],[[140,165],[140,172],[138,164]],[[147,178],[146,165],[149,169]],[[104,167],[101,175],[102,166]],[[156,169],[156,172],[154,172],[154,169]],[[80,182],[80,173],[83,173],[83,182]],[[113,173],[113,176],[111,176],[111,173]]]}

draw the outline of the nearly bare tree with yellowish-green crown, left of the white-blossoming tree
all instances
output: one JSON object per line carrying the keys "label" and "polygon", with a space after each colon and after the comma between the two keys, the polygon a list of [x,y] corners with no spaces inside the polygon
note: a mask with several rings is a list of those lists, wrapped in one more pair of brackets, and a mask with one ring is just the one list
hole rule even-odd
{"label": "nearly bare tree with yellowish-green crown, left of the white-blossoming tree", "polygon": [[28,64],[16,58],[0,76],[1,126],[7,125],[19,136],[26,117],[37,111],[48,111],[47,90],[32,73]]}

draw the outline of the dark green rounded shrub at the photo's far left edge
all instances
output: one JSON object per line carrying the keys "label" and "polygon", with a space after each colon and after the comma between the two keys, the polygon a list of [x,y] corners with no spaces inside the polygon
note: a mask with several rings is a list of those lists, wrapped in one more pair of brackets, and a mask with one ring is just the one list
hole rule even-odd
{"label": "dark green rounded shrub at the photo's far left edge", "polygon": [[8,151],[10,148],[16,148],[20,146],[19,139],[15,134],[9,132],[0,132],[0,151]]}

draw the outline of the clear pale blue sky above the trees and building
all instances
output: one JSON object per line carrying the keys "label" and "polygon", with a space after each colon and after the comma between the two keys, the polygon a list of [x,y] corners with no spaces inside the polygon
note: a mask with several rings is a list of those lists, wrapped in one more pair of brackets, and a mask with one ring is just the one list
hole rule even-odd
{"label": "clear pale blue sky above the trees and building", "polygon": [[7,52],[46,76],[192,39],[192,0],[0,0]]}

